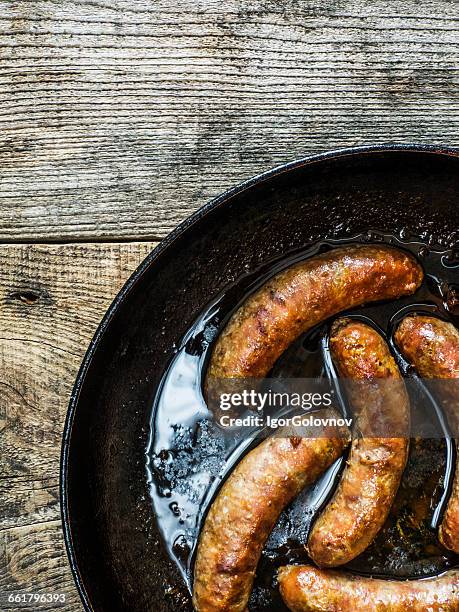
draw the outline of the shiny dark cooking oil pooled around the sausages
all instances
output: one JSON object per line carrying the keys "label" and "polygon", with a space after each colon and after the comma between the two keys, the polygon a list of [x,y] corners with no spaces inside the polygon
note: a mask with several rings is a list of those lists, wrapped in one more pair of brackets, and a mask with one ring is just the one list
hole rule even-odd
{"label": "shiny dark cooking oil pooled around the sausages", "polygon": [[[202,386],[218,333],[247,295],[278,271],[335,246],[385,242],[418,257],[425,271],[423,285],[413,296],[353,309],[346,315],[382,330],[402,371],[412,376],[411,368],[397,353],[394,329],[409,312],[430,312],[458,325],[459,258],[454,251],[439,252],[421,241],[407,239],[405,235],[369,232],[353,240],[322,242],[308,251],[268,262],[217,296],[183,338],[154,402],[147,473],[164,544],[190,590],[196,545],[209,505],[222,481],[256,444],[242,433],[233,438],[224,435],[212,423],[206,407]],[[270,376],[327,376],[339,389],[327,350],[328,325],[325,322],[299,338],[279,358]],[[342,401],[345,404],[345,398]],[[341,408],[346,409],[345,405]],[[431,414],[435,419],[435,410]],[[408,465],[386,524],[368,549],[347,566],[350,571],[408,578],[435,575],[458,564],[458,556],[445,550],[436,537],[451,486],[451,449],[452,442],[447,439],[412,440]],[[335,462],[282,512],[258,566],[251,609],[285,609],[276,588],[276,569],[285,563],[309,561],[304,545],[310,526],[332,495],[343,462],[344,458]]]}

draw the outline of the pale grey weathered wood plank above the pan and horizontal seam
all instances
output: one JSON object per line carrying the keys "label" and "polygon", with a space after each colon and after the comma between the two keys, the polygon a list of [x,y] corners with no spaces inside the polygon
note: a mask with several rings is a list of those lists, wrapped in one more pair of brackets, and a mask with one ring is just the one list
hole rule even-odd
{"label": "pale grey weathered wood plank above the pan and horizontal seam", "polygon": [[459,146],[450,0],[0,0],[0,240],[162,237],[273,165]]}

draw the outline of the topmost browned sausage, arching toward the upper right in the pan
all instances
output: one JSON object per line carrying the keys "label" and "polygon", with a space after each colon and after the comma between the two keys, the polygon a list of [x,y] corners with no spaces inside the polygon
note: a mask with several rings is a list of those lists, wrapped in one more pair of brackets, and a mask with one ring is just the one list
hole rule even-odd
{"label": "topmost browned sausage, arching toward the upper right in the pan", "polygon": [[208,376],[261,378],[301,333],[341,310],[414,293],[416,260],[382,245],[337,248],[270,279],[236,311],[218,338]]}

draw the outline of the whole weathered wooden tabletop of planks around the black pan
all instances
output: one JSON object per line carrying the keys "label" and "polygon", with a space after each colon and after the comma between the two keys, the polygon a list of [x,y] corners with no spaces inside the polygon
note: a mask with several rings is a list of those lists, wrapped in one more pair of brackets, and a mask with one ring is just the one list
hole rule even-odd
{"label": "whole weathered wooden tabletop of planks around the black pan", "polygon": [[[81,610],[58,469],[98,322],[208,199],[300,156],[459,146],[457,0],[0,0],[0,609]],[[64,604],[8,603],[63,593]]]}

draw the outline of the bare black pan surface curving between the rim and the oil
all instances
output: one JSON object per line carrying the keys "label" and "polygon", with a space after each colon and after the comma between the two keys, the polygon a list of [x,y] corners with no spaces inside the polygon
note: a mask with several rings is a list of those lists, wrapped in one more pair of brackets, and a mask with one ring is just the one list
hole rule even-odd
{"label": "bare black pan surface curving between the rim and the oil", "polygon": [[70,561],[94,610],[191,610],[148,493],[152,401],[173,347],[213,296],[287,251],[370,230],[459,244],[459,157],[371,149],[290,165],[185,222],[115,301],[82,366],[63,446]]}

